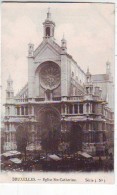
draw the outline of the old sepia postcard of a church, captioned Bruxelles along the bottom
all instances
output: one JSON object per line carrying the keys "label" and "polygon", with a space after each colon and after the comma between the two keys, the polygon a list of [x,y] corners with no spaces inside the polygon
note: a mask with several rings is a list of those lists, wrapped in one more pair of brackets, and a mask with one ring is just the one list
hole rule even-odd
{"label": "old sepia postcard of a church, captioned Bruxelles along the bottom", "polygon": [[0,182],[114,183],[114,3],[2,3]]}

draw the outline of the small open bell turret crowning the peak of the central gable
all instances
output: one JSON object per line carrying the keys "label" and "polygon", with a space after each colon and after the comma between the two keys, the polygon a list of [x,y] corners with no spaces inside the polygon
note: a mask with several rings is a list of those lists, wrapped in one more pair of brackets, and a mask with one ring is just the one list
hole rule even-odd
{"label": "small open bell turret crowning the peak of the central gable", "polygon": [[52,39],[54,40],[54,28],[55,23],[51,20],[50,8],[48,8],[47,18],[43,23],[44,26],[44,39]]}

